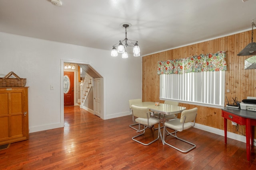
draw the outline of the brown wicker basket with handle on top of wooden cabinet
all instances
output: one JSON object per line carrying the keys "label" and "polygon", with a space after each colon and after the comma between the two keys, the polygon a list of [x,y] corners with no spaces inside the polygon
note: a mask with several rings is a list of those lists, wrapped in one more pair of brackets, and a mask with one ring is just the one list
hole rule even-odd
{"label": "brown wicker basket with handle on top of wooden cabinet", "polygon": [[[16,78],[9,78],[11,75],[14,75]],[[0,87],[24,87],[26,82],[26,78],[20,78],[11,71],[4,78],[0,78]]]}

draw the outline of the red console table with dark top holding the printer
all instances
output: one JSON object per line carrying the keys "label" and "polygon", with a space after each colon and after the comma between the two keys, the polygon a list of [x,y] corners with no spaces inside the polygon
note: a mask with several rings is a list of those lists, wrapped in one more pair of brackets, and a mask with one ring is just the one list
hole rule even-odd
{"label": "red console table with dark top holding the printer", "polygon": [[227,120],[228,119],[240,125],[245,125],[246,155],[247,155],[247,160],[250,161],[250,146],[252,145],[253,147],[253,139],[254,139],[253,126],[256,126],[256,112],[224,107],[221,111],[221,115],[222,117],[224,117],[225,144],[227,143]]}

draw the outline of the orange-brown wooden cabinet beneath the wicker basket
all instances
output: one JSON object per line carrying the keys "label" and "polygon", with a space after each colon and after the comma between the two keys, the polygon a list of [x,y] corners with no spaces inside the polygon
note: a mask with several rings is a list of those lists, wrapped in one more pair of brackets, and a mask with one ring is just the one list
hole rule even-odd
{"label": "orange-brown wooden cabinet beneath the wicker basket", "polygon": [[0,145],[28,135],[28,87],[0,88]]}

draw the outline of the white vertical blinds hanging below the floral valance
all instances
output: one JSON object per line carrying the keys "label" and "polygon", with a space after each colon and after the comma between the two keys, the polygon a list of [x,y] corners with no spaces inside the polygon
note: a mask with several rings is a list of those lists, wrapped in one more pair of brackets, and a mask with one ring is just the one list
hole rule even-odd
{"label": "white vertical blinds hanging below the floral valance", "polygon": [[160,99],[224,107],[225,71],[160,74]]}

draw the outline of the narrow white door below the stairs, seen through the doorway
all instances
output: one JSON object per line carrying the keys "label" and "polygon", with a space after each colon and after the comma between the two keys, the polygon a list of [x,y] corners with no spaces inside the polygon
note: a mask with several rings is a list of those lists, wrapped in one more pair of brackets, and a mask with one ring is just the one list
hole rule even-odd
{"label": "narrow white door below the stairs, seen through the doorway", "polygon": [[101,90],[100,79],[94,79],[94,114],[100,117],[101,115]]}

